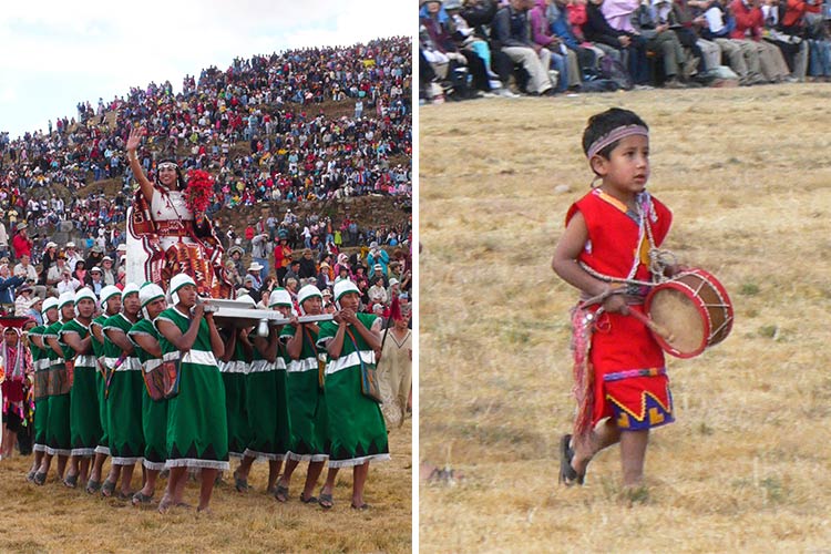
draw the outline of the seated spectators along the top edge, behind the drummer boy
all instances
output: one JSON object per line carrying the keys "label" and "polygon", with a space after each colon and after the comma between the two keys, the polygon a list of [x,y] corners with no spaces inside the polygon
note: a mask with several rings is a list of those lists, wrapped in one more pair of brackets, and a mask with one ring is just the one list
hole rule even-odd
{"label": "seated spectators along the top edge, behind the drummer boy", "polygon": [[828,0],[420,0],[420,101],[831,80]]}

